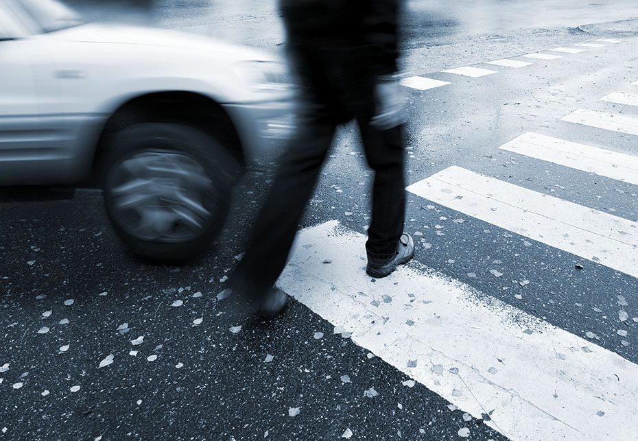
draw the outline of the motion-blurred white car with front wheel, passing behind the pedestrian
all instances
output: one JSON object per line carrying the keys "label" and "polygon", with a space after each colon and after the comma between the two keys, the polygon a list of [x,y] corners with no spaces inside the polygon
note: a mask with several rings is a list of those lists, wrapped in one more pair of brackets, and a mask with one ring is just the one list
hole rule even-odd
{"label": "motion-blurred white car with front wheel, passing behind the pedestrian", "polygon": [[0,185],[95,182],[146,257],[208,246],[238,165],[292,130],[291,93],[260,51],[0,0]]}

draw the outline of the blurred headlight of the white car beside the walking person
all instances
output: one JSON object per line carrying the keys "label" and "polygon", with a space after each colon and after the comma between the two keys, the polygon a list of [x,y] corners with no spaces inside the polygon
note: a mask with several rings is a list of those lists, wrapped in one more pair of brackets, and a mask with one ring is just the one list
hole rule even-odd
{"label": "blurred headlight of the white car beside the walking person", "polygon": [[281,93],[291,89],[284,64],[274,61],[243,61],[235,65],[237,75],[254,91]]}

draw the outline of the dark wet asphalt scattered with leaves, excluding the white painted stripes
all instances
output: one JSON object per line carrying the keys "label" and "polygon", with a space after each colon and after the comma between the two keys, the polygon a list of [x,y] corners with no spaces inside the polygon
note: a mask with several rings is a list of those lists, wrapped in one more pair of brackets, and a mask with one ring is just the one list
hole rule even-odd
{"label": "dark wet asphalt scattered with leaves, excluding the white painted stripes", "polygon": [[[243,1],[165,2],[152,19],[281,50],[273,3],[250,5],[248,13]],[[108,12],[86,2],[80,8],[102,19],[123,14],[117,3]],[[579,108],[638,117],[635,106],[600,101],[613,91],[631,92],[638,80],[638,26],[619,21],[638,16],[633,2],[495,1],[479,8],[475,2],[413,1],[410,10],[405,70],[451,84],[405,88],[407,184],[463,167],[637,221],[634,184],[499,149],[525,132],[538,132],[638,155],[634,135],[561,121]],[[126,17],[134,23],[148,19],[141,13]],[[521,57],[599,38],[623,41],[560,53],[556,60]],[[499,58],[534,64],[484,64]],[[469,65],[497,73],[469,78],[440,72]],[[230,226],[252,223],[271,174],[268,163],[250,165],[219,242],[183,266],[126,254],[97,191],[2,191],[0,439],[542,439],[499,427],[499,418],[512,412],[507,403],[485,409],[485,416],[466,414],[453,404],[456,398],[433,392],[436,383],[411,381],[407,370],[296,300],[269,322],[237,311],[232,299],[217,298],[245,246],[246,231]],[[302,226],[337,219],[365,233],[369,180],[357,130],[346,125]],[[417,241],[418,263],[469,285],[480,301],[496,299],[609,357],[638,364],[635,276],[412,193],[405,230]],[[331,282],[342,287],[336,277]],[[459,344],[472,353],[484,342]],[[631,389],[635,383],[619,381],[626,382],[627,393],[638,394]],[[569,405],[576,403],[567,398]],[[604,425],[598,407],[589,411],[578,417],[600,418]],[[631,425],[635,420],[624,427]]]}

